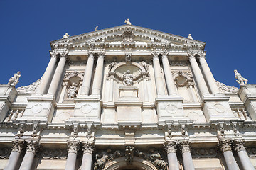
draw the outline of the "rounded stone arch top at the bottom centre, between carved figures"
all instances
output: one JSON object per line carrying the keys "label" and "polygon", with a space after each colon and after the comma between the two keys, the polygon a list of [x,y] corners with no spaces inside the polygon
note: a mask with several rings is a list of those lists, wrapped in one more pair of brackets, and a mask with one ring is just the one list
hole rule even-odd
{"label": "rounded stone arch top at the bottom centre, between carved figures", "polygon": [[156,167],[149,161],[140,157],[134,157],[132,165],[128,165],[125,161],[125,157],[119,157],[113,159],[111,162],[107,162],[103,170],[157,170]]}

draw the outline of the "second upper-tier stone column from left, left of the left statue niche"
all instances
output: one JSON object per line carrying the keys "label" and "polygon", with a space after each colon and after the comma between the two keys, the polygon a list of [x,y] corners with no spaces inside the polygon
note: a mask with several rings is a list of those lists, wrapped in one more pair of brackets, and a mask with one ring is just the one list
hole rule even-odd
{"label": "second upper-tier stone column from left, left of the left statue niche", "polygon": [[67,53],[63,53],[60,57],[60,61],[58,62],[58,66],[55,70],[53,79],[50,83],[48,94],[53,94],[54,96],[56,95],[58,90],[58,85],[60,84],[60,79],[64,71],[66,58],[67,58]]}

